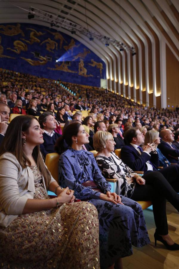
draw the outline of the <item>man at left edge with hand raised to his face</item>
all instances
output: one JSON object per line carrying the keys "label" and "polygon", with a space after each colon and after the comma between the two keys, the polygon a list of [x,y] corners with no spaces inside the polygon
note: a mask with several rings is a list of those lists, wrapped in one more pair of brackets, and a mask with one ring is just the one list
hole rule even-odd
{"label": "man at left edge with hand raised to his face", "polygon": [[7,104],[0,102],[0,145],[4,139],[9,120],[10,108]]}

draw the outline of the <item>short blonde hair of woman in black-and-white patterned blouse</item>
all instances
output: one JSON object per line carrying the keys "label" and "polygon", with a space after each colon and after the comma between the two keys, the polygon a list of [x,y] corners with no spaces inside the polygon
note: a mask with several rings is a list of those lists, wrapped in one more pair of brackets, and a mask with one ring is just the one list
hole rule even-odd
{"label": "short blonde hair of woman in black-and-white patterned blouse", "polygon": [[98,131],[93,135],[93,147],[96,151],[101,151],[106,146],[107,140],[113,139],[109,132]]}

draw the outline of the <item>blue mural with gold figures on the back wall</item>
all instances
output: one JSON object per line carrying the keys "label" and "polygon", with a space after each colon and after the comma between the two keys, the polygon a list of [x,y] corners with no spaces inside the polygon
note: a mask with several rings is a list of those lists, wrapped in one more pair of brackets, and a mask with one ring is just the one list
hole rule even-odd
{"label": "blue mural with gold figures on the back wall", "polygon": [[75,38],[27,23],[0,25],[0,68],[100,87],[106,65]]}

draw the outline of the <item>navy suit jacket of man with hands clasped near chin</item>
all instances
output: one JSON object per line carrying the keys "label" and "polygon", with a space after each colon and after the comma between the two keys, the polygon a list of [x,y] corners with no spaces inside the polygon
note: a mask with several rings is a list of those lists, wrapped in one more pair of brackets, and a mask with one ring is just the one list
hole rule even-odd
{"label": "navy suit jacket of man with hands clasped near chin", "polygon": [[133,171],[146,172],[147,161],[152,162],[152,165],[157,170],[157,167],[159,166],[158,154],[150,153],[150,155],[151,157],[146,152],[142,152],[142,154],[140,155],[140,153],[132,145],[124,146],[121,149],[122,161],[127,164]]}

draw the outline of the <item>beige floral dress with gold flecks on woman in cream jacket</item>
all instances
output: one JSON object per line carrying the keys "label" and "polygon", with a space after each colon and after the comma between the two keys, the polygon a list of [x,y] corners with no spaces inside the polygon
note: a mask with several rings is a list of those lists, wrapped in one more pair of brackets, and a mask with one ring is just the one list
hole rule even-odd
{"label": "beige floral dress with gold flecks on woman in cream jacket", "polygon": [[[37,166],[34,199],[49,199]],[[99,269],[98,212],[87,202],[19,215],[0,227],[0,268]]]}

